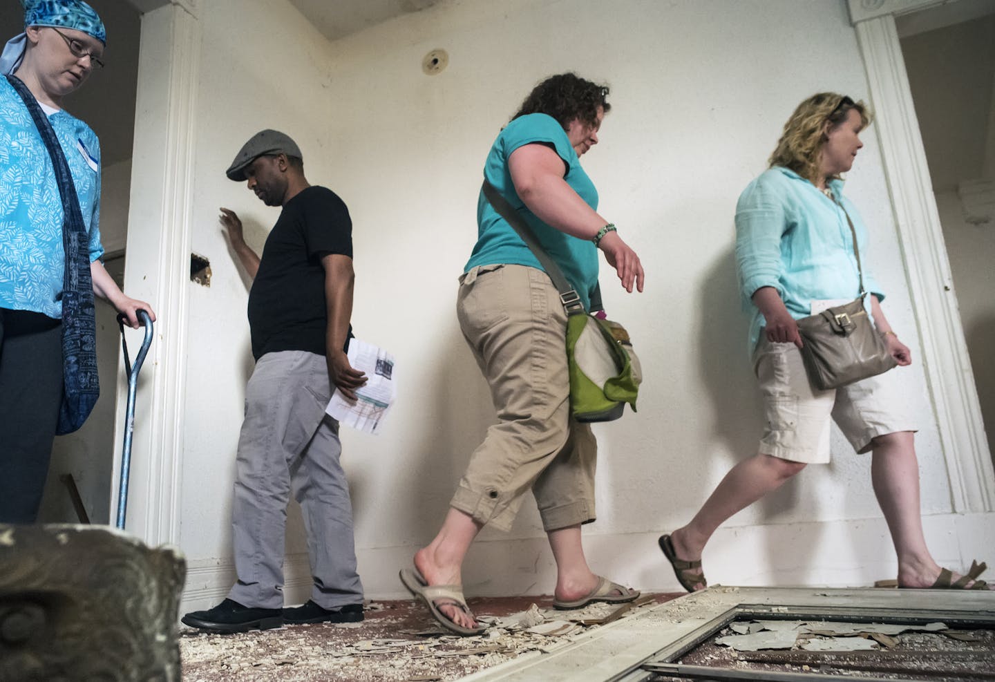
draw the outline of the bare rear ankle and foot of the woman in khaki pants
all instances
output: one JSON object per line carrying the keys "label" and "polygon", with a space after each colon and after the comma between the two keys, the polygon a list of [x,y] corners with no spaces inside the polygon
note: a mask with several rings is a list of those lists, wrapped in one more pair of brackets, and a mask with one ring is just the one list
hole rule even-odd
{"label": "bare rear ankle and foot of the woman in khaki pants", "polygon": [[[415,568],[431,585],[462,585],[463,560],[482,528],[483,525],[478,524],[471,516],[450,508],[439,534],[428,547],[415,553]],[[459,625],[477,627],[477,621],[472,615],[452,604],[440,605],[439,610]]]}

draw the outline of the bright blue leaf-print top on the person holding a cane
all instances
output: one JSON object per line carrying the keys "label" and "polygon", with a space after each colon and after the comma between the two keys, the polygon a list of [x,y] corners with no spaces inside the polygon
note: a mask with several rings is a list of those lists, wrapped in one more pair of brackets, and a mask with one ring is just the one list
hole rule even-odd
{"label": "bright blue leaf-print top on the person holding a cane", "polygon": [[[100,246],[100,141],[66,112],[49,115],[76,184],[90,236]],[[62,318],[63,207],[48,149],[17,92],[0,78],[0,308]]]}

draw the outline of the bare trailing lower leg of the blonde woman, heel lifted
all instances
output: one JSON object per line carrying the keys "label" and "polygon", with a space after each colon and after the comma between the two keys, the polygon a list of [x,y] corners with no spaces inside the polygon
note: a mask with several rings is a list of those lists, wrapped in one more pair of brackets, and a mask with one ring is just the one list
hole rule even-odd
{"label": "bare trailing lower leg of the blonde woman, heel lifted", "polygon": [[758,454],[735,465],[698,510],[691,523],[671,534],[679,559],[695,562],[711,534],[736,512],[753,504],[805,468],[770,455]]}

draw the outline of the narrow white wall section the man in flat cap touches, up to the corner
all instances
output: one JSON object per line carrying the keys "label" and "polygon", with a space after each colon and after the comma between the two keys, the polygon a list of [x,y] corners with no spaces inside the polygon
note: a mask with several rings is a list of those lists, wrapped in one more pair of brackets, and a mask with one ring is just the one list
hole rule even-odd
{"label": "narrow white wall section the man in flat cap touches, up to the corner", "polygon": [[[243,279],[218,224],[218,207],[242,217],[258,252],[279,216],[224,170],[255,132],[279,128],[303,147],[308,174],[328,177],[327,41],[288,2],[227,0],[205,5],[196,112],[197,158],[194,253],[211,261],[210,288],[189,287],[189,356],[183,456],[181,548],[195,585],[202,560],[231,560],[231,497],[244,388],[254,365]],[[258,49],[248,49],[257,46]],[[337,169],[339,174],[347,172]],[[334,186],[334,178],[328,183]],[[289,551],[305,551],[292,522]],[[229,582],[225,575],[222,581]]]}

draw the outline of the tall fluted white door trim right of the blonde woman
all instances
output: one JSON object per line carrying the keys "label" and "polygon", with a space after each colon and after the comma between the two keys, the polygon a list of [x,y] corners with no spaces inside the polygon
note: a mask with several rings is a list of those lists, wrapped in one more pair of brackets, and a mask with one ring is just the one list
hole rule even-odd
{"label": "tall fluted white door trim right of the blonde woman", "polygon": [[[852,9],[854,4],[852,0]],[[896,4],[893,1],[885,6]],[[931,3],[900,4],[906,9],[909,4],[924,7]],[[953,510],[995,511],[995,471],[895,18],[883,14],[861,21],[855,29],[874,103],[875,130],[950,478]]]}

